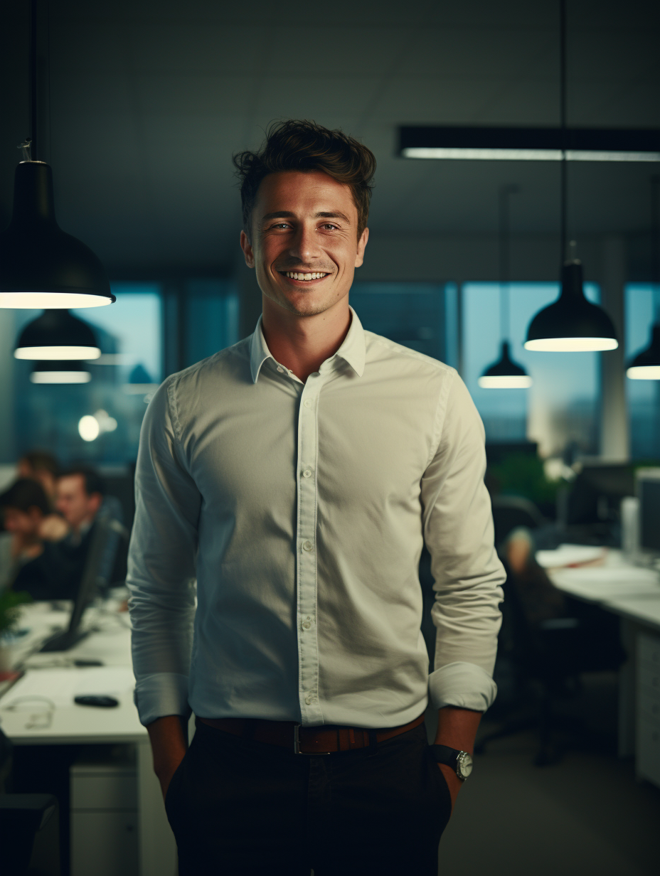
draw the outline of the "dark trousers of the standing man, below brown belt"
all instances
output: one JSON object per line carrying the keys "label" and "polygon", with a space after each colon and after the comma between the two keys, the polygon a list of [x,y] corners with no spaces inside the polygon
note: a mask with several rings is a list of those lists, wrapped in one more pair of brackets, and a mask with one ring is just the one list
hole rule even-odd
{"label": "dark trousers of the standing man, below brown belt", "polygon": [[166,809],[180,876],[437,876],[451,796],[423,724],[309,756],[198,721]]}

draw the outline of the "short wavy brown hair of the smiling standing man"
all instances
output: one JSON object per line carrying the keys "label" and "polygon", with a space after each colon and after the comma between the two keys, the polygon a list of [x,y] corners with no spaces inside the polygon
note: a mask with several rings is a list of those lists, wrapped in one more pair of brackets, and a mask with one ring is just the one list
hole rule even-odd
{"label": "short wavy brown hair of the smiling standing man", "polygon": [[307,120],[273,122],[266,128],[259,152],[237,152],[232,160],[240,180],[243,227],[248,237],[261,180],[283,170],[321,170],[350,187],[358,208],[358,237],[365,230],[376,159],[370,149],[344,131],[330,131]]}

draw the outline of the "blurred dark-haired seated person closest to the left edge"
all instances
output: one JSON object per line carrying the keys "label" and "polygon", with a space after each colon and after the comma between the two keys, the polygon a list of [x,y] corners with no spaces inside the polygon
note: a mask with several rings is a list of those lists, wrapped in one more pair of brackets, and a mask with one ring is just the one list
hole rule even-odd
{"label": "blurred dark-haired seated person closest to the left edge", "polygon": [[5,532],[0,535],[0,588],[23,590],[33,599],[71,598],[67,563],[41,530],[50,504],[41,484],[21,477],[0,496]]}

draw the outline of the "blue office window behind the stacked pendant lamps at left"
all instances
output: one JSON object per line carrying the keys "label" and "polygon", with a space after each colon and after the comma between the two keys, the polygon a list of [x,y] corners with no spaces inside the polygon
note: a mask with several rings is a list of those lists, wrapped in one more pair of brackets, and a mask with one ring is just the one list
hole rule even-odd
{"label": "blue office window behind the stacked pendant lamps at left", "polygon": [[[135,460],[145,400],[163,378],[162,300],[157,284],[111,286],[115,304],[74,311],[94,330],[102,351],[100,359],[87,364],[89,383],[32,384],[32,364],[15,362],[17,455],[40,448],[51,450],[62,463]],[[16,335],[37,315],[14,313]]]}

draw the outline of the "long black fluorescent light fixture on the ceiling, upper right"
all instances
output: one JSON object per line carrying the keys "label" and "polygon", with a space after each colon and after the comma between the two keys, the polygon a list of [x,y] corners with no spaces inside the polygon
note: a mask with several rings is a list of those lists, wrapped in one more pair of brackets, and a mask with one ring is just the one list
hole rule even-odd
{"label": "long black fluorescent light fixture on the ceiling, upper right", "polygon": [[406,159],[463,161],[660,161],[660,130],[477,128],[441,125],[399,128]]}

